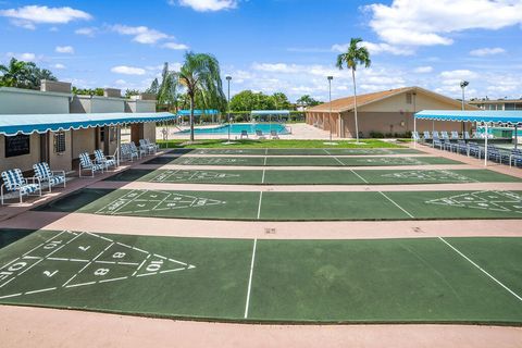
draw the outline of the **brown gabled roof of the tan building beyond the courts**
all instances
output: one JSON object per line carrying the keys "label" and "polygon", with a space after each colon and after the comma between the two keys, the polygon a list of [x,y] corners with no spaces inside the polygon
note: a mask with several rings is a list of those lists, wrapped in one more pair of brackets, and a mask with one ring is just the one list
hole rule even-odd
{"label": "brown gabled roof of the tan building beyond the courts", "polygon": [[[368,105],[377,101],[381,101],[386,98],[390,98],[403,92],[420,92],[424,95],[432,96],[433,98],[446,101],[448,103],[453,103],[457,107],[460,108],[461,102],[451,99],[449,97],[433,92],[431,90],[421,88],[421,87],[402,87],[402,88],[395,88],[395,89],[388,89],[388,90],[383,90],[383,91],[377,91],[373,94],[366,94],[366,95],[358,95],[357,96],[357,107],[363,107]],[[340,98],[336,100],[332,100],[332,112],[346,112],[346,111],[351,111],[355,108],[353,103],[353,96],[347,97],[347,98]],[[473,107],[473,109],[476,109]],[[330,112],[330,102],[322,103],[320,105],[309,108],[307,109],[307,112]]]}

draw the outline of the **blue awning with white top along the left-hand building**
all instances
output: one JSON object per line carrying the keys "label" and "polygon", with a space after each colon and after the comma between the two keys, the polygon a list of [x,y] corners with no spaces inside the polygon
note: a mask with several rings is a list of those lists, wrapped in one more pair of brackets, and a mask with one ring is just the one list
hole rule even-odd
{"label": "blue awning with white top along the left-hand building", "polygon": [[63,113],[63,114],[0,114],[0,135],[29,135],[90,127],[116,126],[132,123],[164,122],[178,116],[170,112],[144,113]]}

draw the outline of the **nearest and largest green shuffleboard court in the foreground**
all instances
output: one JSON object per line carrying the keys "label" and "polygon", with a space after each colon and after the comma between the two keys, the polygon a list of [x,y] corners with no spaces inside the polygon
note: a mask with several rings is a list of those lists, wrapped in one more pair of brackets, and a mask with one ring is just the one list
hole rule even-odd
{"label": "nearest and largest green shuffleboard court in the foreground", "polygon": [[0,302],[248,322],[522,324],[522,238],[249,240],[39,231]]}

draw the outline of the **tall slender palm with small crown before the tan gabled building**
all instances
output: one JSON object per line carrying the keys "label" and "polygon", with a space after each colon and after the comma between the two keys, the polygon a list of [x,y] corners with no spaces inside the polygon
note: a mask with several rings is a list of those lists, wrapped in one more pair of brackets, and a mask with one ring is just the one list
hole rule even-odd
{"label": "tall slender palm with small crown before the tan gabled building", "polygon": [[[359,125],[357,123],[357,88],[356,88],[356,70],[357,65],[364,65],[364,67],[370,67],[372,61],[370,60],[370,53],[368,49],[363,46],[359,47],[358,45],[362,42],[361,38],[352,38],[350,40],[350,46],[346,53],[340,53],[337,55],[337,64],[336,66],[339,70],[343,70],[343,65],[346,64],[346,67],[351,70],[351,78],[353,79],[353,113],[356,119],[356,138],[357,142],[359,142]],[[339,117],[339,124],[341,119]],[[343,128],[341,128],[343,129]],[[340,136],[340,134],[339,134]]]}

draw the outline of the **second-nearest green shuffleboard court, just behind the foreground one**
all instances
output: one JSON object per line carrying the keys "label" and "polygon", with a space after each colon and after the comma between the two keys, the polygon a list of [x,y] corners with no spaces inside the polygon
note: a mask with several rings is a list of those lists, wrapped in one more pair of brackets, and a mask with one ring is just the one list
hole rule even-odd
{"label": "second-nearest green shuffleboard court, just behind the foreground one", "polygon": [[257,192],[83,189],[36,210],[246,221],[520,219],[522,191]]}

